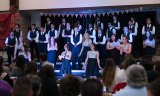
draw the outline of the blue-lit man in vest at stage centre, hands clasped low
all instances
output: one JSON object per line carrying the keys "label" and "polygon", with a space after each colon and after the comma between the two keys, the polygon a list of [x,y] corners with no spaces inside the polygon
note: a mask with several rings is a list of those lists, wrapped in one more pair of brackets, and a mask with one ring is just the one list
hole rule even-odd
{"label": "blue-lit man in vest at stage centre, hands clasped low", "polygon": [[76,61],[80,60],[79,53],[81,50],[81,43],[82,43],[82,34],[79,32],[78,26],[74,27],[74,33],[71,36],[71,46],[72,46],[72,68],[73,69],[81,69],[81,64],[76,66]]}

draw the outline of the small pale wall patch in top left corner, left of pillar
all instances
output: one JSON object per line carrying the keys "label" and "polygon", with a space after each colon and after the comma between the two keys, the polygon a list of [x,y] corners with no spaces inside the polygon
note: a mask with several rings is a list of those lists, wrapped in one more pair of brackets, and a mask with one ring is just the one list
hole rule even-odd
{"label": "small pale wall patch in top left corner, left of pillar", "polygon": [[0,0],[0,11],[9,11],[9,0]]}

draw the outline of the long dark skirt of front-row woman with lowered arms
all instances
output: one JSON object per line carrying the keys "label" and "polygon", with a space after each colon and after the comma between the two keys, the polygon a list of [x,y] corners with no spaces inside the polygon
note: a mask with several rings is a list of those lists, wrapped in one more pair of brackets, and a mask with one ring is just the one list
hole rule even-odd
{"label": "long dark skirt of front-row woman with lowered arms", "polygon": [[99,68],[98,68],[97,59],[89,58],[87,69],[86,69],[86,76],[90,77],[90,76],[98,76],[98,75],[99,75]]}

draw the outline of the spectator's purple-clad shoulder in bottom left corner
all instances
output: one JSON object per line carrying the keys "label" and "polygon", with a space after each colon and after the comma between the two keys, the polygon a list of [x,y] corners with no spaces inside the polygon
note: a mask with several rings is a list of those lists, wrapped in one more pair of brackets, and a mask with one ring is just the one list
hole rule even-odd
{"label": "spectator's purple-clad shoulder in bottom left corner", "polygon": [[12,96],[12,87],[4,80],[0,80],[0,96]]}

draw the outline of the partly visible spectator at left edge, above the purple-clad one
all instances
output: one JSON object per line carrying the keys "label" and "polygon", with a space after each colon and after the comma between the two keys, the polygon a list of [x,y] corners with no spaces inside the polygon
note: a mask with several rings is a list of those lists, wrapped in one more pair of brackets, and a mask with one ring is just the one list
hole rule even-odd
{"label": "partly visible spectator at left edge, above the purple-clad one", "polygon": [[0,80],[4,80],[6,82],[8,82],[11,86],[13,84],[13,81],[10,79],[8,73],[6,73],[4,70],[3,70],[3,57],[0,56]]}

